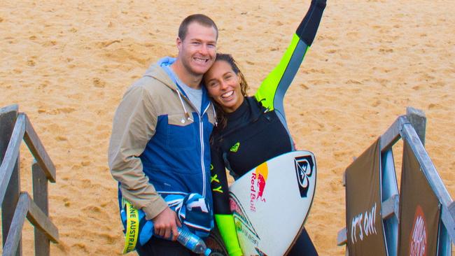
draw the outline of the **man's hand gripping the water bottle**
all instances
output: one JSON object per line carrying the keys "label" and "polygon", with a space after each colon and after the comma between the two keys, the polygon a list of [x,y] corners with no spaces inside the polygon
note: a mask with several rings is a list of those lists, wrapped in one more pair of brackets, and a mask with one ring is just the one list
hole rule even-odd
{"label": "man's hand gripping the water bottle", "polygon": [[176,241],[177,236],[179,236],[177,225],[181,227],[181,223],[176,212],[169,207],[153,218],[153,225],[155,226],[155,234],[165,239],[169,239],[172,235],[172,241]]}

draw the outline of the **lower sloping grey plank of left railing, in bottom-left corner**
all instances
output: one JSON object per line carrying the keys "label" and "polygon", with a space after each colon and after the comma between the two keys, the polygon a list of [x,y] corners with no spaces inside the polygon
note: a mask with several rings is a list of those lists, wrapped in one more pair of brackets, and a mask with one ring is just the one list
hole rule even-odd
{"label": "lower sloping grey plank of left railing, in bottom-left corner", "polygon": [[10,232],[8,232],[5,246],[3,246],[3,256],[16,255],[28,208],[29,196],[27,193],[21,193],[18,206],[15,209],[13,222],[11,222]]}

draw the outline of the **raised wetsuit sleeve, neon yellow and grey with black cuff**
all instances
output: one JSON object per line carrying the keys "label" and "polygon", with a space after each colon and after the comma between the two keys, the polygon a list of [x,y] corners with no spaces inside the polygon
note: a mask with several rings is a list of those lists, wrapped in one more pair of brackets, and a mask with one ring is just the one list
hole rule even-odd
{"label": "raised wetsuit sleeve, neon yellow and grey with black cuff", "polygon": [[311,1],[308,12],[297,27],[281,61],[269,73],[256,92],[256,100],[260,101],[265,108],[269,108],[270,111],[275,110],[284,116],[284,94],[286,94],[300,64],[302,64],[309,46],[313,43],[325,5],[326,0]]}

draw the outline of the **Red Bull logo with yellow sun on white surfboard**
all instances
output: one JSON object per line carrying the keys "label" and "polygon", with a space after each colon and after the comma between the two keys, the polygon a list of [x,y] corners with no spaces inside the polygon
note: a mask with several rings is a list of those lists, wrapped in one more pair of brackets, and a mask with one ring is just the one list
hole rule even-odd
{"label": "Red Bull logo with yellow sun on white surfboard", "polygon": [[255,172],[251,173],[251,192],[250,192],[250,210],[256,211],[256,201],[265,202],[264,190],[267,183],[269,168],[264,162],[256,167]]}

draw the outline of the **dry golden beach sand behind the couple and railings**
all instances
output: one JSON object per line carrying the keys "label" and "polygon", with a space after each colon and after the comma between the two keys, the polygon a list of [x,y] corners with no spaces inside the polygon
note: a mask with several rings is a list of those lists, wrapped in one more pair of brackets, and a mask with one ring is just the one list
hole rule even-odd
{"label": "dry golden beach sand behind the couple and railings", "polygon": [[[106,157],[113,113],[151,62],[176,55],[183,17],[213,17],[218,50],[235,55],[253,93],[309,6],[181,2],[1,1],[0,106],[19,104],[57,166],[50,216],[61,243],[52,255],[120,255],[116,182]],[[454,195],[453,13],[453,0],[329,1],[285,101],[297,147],[317,157],[307,229],[321,255],[344,255],[335,246],[344,227],[344,169],[407,106],[426,113],[428,154]],[[22,190],[31,192],[25,147],[21,161]],[[32,234],[25,225],[24,255],[34,251]]]}

